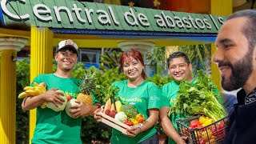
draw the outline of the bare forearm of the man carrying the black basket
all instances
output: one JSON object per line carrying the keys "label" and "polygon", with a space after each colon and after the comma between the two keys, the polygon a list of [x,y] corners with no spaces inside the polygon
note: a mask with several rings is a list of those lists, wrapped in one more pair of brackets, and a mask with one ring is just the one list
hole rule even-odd
{"label": "bare forearm of the man carrying the black basket", "polygon": [[182,142],[182,137],[175,130],[174,125],[167,116],[162,118],[161,126],[168,137],[172,138],[176,143]]}

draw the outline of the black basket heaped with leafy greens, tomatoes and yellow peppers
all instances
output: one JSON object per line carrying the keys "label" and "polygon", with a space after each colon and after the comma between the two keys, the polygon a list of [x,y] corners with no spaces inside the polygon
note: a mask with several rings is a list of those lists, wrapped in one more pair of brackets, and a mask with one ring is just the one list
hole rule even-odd
{"label": "black basket heaped with leafy greens, tomatoes and yellow peppers", "polygon": [[194,84],[182,81],[179,86],[177,98],[170,107],[171,117],[182,116],[182,120],[175,119],[178,132],[192,143],[222,143],[227,114],[210,75],[198,70]]}

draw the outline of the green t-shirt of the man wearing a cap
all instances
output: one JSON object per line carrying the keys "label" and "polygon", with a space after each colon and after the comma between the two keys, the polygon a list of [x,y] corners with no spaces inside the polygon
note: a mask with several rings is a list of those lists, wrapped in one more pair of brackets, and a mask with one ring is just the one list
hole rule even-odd
{"label": "green t-shirt of the man wearing a cap", "polygon": [[[70,94],[73,98],[79,93],[79,81],[76,78],[59,78],[54,74],[40,74],[34,82],[46,83],[46,89],[58,88],[65,94]],[[94,95],[93,95],[94,98]],[[94,102],[98,102],[94,98]],[[81,118],[71,118],[65,110],[56,112],[49,108],[42,109],[37,107],[37,122],[34,130],[32,143],[82,143],[81,135]]]}

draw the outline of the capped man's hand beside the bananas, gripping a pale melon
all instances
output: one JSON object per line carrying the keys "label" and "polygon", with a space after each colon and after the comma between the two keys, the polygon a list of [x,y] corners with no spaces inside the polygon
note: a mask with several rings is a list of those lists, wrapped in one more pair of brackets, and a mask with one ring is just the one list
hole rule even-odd
{"label": "capped man's hand beside the bananas, gripping a pale melon", "polygon": [[43,98],[46,102],[53,102],[54,105],[58,107],[59,105],[62,105],[63,102],[65,102],[65,100],[61,96],[59,96],[59,94],[61,94],[62,96],[64,95],[61,91],[58,91],[58,89],[53,88],[46,91],[43,94]]}

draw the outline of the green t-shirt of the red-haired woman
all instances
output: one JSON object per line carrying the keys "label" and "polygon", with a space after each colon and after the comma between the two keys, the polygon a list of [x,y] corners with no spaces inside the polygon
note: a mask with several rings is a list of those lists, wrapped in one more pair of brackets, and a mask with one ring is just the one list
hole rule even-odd
{"label": "green t-shirt of the red-haired woman", "polygon": [[[153,82],[145,81],[134,88],[127,86],[127,80],[114,82],[112,85],[119,88],[118,96],[122,104],[129,103],[133,105],[138,110],[138,113],[144,114],[145,120],[149,118],[149,109],[160,109],[161,91]],[[120,131],[112,129],[110,142],[113,144],[138,143],[150,138],[156,132],[157,130],[152,126],[149,130],[130,138]]]}

